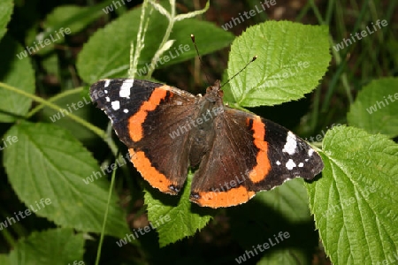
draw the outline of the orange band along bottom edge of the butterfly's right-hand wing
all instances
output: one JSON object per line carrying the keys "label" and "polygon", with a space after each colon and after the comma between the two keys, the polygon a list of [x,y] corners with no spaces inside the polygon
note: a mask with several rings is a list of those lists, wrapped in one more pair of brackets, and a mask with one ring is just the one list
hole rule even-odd
{"label": "orange band along bottom edge of the butterfly's right-hand wing", "polygon": [[254,195],[256,195],[255,192],[250,192],[244,186],[239,186],[226,192],[199,193],[200,198],[195,202],[200,206],[211,208],[229,207],[249,201]]}

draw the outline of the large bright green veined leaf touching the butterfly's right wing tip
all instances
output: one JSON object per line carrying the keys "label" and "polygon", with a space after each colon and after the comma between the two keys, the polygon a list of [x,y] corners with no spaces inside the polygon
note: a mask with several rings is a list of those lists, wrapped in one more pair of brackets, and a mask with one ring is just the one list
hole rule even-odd
{"label": "large bright green veined leaf touching the butterfly's right wing tip", "polygon": [[329,130],[322,178],[307,185],[333,264],[380,264],[398,249],[398,145],[354,127]]}

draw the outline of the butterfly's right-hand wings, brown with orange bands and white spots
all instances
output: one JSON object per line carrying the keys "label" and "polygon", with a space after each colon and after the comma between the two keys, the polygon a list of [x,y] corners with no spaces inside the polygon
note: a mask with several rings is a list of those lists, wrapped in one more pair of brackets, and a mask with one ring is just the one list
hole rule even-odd
{"label": "butterfly's right-hand wings, brown with orange bands and white spots", "polygon": [[262,117],[225,107],[191,186],[191,201],[211,208],[249,201],[287,179],[314,178],[323,163],[308,143]]}

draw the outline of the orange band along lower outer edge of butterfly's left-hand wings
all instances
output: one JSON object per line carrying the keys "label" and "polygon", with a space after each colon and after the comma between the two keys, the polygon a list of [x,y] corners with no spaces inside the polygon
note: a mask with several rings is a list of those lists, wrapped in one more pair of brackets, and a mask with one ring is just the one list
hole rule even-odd
{"label": "orange band along lower outer edge of butterfly's left-hand wings", "polygon": [[172,181],[152,166],[144,152],[135,152],[133,148],[128,149],[128,152],[130,153],[131,162],[134,163],[134,167],[142,174],[142,178],[161,192],[170,193],[169,186],[173,185]]}

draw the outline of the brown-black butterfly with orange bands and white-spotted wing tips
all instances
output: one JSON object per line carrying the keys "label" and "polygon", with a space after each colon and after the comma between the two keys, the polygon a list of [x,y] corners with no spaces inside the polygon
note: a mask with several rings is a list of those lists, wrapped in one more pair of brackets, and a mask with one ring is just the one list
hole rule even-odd
{"label": "brown-black butterfly with orange bands and white-spotted wing tips", "polygon": [[230,207],[291,178],[314,178],[318,153],[285,127],[223,102],[217,80],[205,95],[141,79],[102,79],[90,97],[111,119],[150,186],[180,193],[195,170],[190,201]]}

